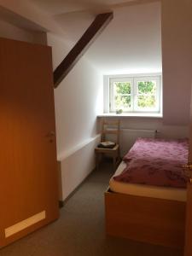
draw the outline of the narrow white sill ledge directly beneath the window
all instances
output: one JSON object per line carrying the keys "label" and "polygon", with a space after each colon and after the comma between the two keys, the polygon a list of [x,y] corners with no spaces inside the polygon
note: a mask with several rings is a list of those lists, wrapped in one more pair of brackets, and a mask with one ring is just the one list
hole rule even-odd
{"label": "narrow white sill ledge directly beneath the window", "polygon": [[163,114],[162,113],[102,113],[98,114],[97,117],[120,117],[120,118],[126,118],[126,117],[141,117],[141,118],[158,118],[162,119]]}

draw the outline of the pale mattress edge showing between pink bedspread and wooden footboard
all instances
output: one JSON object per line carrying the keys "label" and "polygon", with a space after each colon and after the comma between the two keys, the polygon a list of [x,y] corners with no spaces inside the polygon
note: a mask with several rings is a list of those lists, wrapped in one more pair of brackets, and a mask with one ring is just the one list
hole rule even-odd
{"label": "pale mattress edge showing between pink bedspread and wooden footboard", "polygon": [[[125,167],[126,167],[126,164],[124,161],[122,161],[117,171],[113,174],[113,177],[123,172]],[[127,194],[127,195],[138,195],[138,196],[160,198],[160,199],[173,200],[173,201],[187,201],[186,189],[157,187],[157,186],[142,185],[142,184],[135,184],[135,183],[123,183],[123,182],[115,181],[113,177],[111,177],[109,181],[109,188],[113,192],[118,192],[118,193]]]}

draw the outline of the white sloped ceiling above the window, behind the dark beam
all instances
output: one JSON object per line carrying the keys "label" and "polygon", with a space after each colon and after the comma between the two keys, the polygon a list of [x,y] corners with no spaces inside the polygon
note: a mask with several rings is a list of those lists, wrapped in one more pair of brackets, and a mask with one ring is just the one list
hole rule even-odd
{"label": "white sloped ceiling above the window, behind the dark beam", "polygon": [[[155,0],[18,0],[46,31],[79,40],[96,14],[113,11],[114,18],[84,55],[103,74],[161,71],[160,1]],[[0,0],[6,3],[7,1]],[[17,9],[16,9],[17,8]],[[15,7],[17,14],[21,8]],[[27,11],[29,14],[27,15]],[[13,9],[12,9],[13,11]],[[35,19],[38,14],[38,19]],[[42,15],[41,15],[42,14]],[[45,24],[46,21],[46,24]],[[31,29],[31,28],[30,28]],[[64,56],[63,56],[64,57]]]}

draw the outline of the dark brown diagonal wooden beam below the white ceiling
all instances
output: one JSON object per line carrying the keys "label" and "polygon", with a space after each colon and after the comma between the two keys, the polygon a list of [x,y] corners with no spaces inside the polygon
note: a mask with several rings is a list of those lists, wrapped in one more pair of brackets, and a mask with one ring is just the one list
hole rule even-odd
{"label": "dark brown diagonal wooden beam below the white ceiling", "polygon": [[79,58],[84,55],[84,52],[90,47],[100,33],[104,30],[110,20],[113,19],[113,13],[100,14],[91,23],[84,35],[75,44],[73,49],[68,53],[61,64],[54,71],[54,86],[55,88],[61,83],[61,80],[67,76],[67,73],[74,67]]}

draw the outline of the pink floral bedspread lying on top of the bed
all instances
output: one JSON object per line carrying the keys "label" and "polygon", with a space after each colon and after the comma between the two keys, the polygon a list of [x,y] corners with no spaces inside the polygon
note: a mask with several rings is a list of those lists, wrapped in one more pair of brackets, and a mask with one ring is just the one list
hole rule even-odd
{"label": "pink floral bedspread lying on top of the bed", "polygon": [[116,181],[186,188],[183,165],[188,162],[188,139],[138,138],[124,160],[125,170]]}

